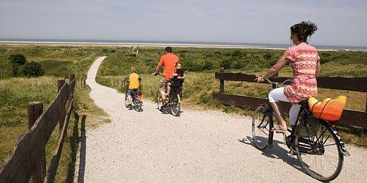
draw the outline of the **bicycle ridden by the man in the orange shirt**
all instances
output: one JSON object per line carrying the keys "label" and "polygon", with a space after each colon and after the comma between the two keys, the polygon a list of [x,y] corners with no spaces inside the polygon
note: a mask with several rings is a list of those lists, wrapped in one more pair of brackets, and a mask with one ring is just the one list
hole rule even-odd
{"label": "bicycle ridden by the man in the orange shirt", "polygon": [[180,116],[181,113],[181,87],[174,86],[171,84],[171,89],[169,91],[168,101],[164,101],[161,97],[161,92],[158,90],[156,92],[156,105],[159,111],[164,108],[169,107],[171,113],[174,116]]}

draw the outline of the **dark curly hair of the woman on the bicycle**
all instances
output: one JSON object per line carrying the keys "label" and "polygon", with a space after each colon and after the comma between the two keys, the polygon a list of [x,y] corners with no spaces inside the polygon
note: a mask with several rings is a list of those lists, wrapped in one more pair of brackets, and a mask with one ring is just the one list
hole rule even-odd
{"label": "dark curly hair of the woman on the bicycle", "polygon": [[296,35],[299,41],[307,42],[307,37],[314,34],[317,30],[317,25],[311,21],[302,21],[294,24],[291,28],[291,33]]}

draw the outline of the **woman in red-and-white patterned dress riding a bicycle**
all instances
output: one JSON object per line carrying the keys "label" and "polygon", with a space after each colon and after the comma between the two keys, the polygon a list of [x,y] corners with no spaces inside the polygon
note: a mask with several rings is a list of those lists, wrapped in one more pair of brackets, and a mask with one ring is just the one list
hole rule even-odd
{"label": "woman in red-and-white patterned dress riding a bicycle", "polygon": [[294,46],[289,47],[269,71],[255,79],[257,82],[263,82],[264,79],[279,72],[287,62],[293,70],[293,80],[290,85],[273,89],[269,93],[270,105],[275,111],[275,117],[279,124],[279,126],[272,128],[272,131],[287,131],[287,124],[275,102],[287,101],[292,103],[289,111],[289,121],[294,126],[301,108],[298,102],[307,100],[311,96],[317,96],[316,77],[321,71],[320,57],[316,48],[307,43],[307,38],[317,30],[317,25],[310,21],[302,21],[292,26],[290,30],[290,38]]}

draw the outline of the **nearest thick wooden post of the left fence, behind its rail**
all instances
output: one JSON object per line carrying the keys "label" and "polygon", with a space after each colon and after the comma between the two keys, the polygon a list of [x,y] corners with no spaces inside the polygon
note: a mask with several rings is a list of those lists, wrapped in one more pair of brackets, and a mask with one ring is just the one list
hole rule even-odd
{"label": "nearest thick wooden post of the left fence, behind its rail", "polygon": [[[28,130],[31,130],[33,124],[36,122],[37,118],[41,116],[43,112],[42,102],[31,102],[28,104]],[[41,159],[38,160],[36,164],[36,169],[33,172],[33,182],[43,182],[46,177],[46,157],[45,157],[45,147],[43,147],[43,155]]]}

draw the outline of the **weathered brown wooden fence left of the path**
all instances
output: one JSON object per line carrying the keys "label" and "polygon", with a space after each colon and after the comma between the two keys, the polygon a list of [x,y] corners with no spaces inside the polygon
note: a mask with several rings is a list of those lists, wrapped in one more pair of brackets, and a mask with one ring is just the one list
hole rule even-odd
{"label": "weathered brown wooden fence left of the path", "polygon": [[[69,75],[69,83],[65,83],[65,79],[58,80],[58,95],[46,111],[41,102],[28,105],[29,130],[18,138],[13,152],[0,166],[0,182],[29,182],[32,175],[33,182],[54,181],[73,111],[75,80],[74,74]],[[45,147],[58,123],[58,149],[46,172]]]}

